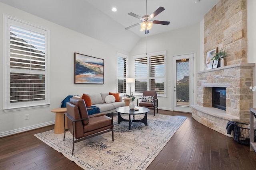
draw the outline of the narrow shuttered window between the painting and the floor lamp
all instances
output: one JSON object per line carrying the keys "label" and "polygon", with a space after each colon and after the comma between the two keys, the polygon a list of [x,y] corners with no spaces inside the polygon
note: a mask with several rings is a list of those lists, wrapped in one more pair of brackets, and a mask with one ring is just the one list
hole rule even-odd
{"label": "narrow shuttered window between the painting and the floor lamp", "polygon": [[126,61],[127,56],[121,53],[116,53],[117,55],[117,89],[118,93],[126,93]]}

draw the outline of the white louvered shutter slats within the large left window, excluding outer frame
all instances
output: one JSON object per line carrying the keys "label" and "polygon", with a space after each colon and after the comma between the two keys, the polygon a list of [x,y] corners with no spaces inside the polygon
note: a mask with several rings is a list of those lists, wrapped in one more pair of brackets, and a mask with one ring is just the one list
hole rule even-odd
{"label": "white louvered shutter slats within the large left window, excluding outer frame", "polygon": [[46,37],[10,25],[10,103],[45,100]]}

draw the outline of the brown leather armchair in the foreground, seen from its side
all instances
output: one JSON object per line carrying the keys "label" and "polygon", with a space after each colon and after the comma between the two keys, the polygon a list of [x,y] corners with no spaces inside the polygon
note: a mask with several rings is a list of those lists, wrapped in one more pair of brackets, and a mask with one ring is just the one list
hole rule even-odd
{"label": "brown leather armchair in the foreground, seen from its side", "polygon": [[75,143],[103,133],[112,131],[112,141],[114,141],[113,113],[111,118],[106,116],[106,113],[88,116],[84,100],[70,98],[70,102],[67,102],[67,113],[65,115],[68,117],[68,129],[64,131],[63,141],[65,140],[66,131],[70,131],[73,135],[72,154],[74,153]]}

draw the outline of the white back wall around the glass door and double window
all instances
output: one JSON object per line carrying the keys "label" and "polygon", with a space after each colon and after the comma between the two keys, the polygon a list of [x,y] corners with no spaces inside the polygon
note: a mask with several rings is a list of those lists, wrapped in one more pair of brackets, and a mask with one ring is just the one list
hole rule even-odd
{"label": "white back wall around the glass door and double window", "polygon": [[[181,29],[176,29],[166,33],[161,33],[158,35],[152,35],[141,39],[136,47],[130,52],[131,62],[134,55],[146,54],[146,44],[147,53],[154,53],[158,51],[167,51],[167,82],[171,81],[171,87],[167,87],[167,97],[158,97],[158,106],[161,109],[172,110],[172,58],[175,55],[185,54],[185,53],[195,53],[195,62],[200,63],[199,58],[199,37],[200,29],[199,23],[195,25],[190,25]],[[153,29],[153,28],[152,28]],[[132,64],[132,63],[131,63]],[[196,72],[199,71],[198,66],[196,66]],[[196,88],[196,87],[195,87]],[[195,90],[196,91],[196,90]],[[195,93],[196,96],[196,93]],[[194,96],[194,97],[195,97]]]}

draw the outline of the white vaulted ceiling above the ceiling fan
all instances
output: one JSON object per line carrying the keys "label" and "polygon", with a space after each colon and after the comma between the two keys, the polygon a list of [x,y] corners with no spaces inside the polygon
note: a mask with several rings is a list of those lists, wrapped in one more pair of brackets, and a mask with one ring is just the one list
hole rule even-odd
{"label": "white vaulted ceiling above the ceiling fan", "polygon": [[[140,21],[129,12],[146,15],[146,0],[0,0],[128,52],[142,37],[199,23],[218,1],[201,0],[195,4],[194,0],[147,0],[147,15],[162,6],[165,10],[154,19],[170,24],[154,24],[145,35],[139,25],[125,28]],[[117,11],[112,12],[112,7]]]}

